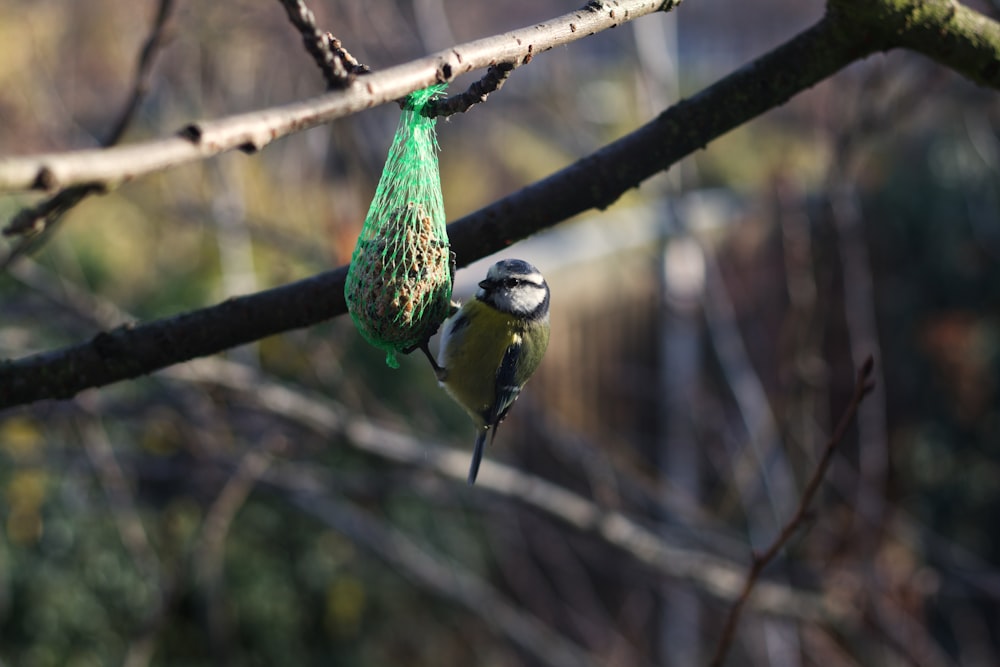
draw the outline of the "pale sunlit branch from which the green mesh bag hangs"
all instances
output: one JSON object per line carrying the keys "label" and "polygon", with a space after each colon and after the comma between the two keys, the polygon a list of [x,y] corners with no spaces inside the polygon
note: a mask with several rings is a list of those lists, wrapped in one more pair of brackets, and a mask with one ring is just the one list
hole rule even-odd
{"label": "pale sunlit branch from which the green mesh bag hangs", "polygon": [[434,83],[499,62],[524,62],[553,47],[658,11],[680,0],[605,0],[545,23],[454,46],[353,81],[312,99],[188,125],[177,135],[111,149],[0,158],[0,192],[94,184],[112,189],[145,174],[233,149],[258,151],[294,132],[322,125]]}

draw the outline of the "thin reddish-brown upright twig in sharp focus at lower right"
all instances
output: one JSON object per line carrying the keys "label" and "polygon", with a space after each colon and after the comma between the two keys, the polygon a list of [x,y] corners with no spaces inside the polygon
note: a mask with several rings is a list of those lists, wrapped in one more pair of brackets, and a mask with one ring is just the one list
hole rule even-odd
{"label": "thin reddish-brown upright twig in sharp focus at lower right", "polygon": [[729,610],[729,615],[726,617],[726,623],[722,628],[722,634],[719,637],[719,643],[716,646],[715,655],[710,663],[713,667],[721,667],[726,659],[726,655],[729,653],[729,648],[732,646],[733,639],[736,635],[736,626],[740,620],[740,613],[743,611],[744,605],[750,599],[750,594],[753,592],[754,586],[757,585],[757,580],[760,578],[761,573],[764,571],[771,561],[777,557],[778,553],[785,547],[788,541],[795,535],[796,532],[805,523],[806,517],[809,513],[809,506],[812,504],[813,497],[819,490],[820,484],[823,483],[823,478],[826,476],[827,468],[830,467],[830,462],[833,460],[834,451],[837,445],[844,438],[847,432],[848,426],[854,419],[855,414],[857,414],[858,407],[864,400],[865,396],[871,392],[874,388],[874,384],[871,381],[872,370],[875,367],[875,362],[871,357],[865,360],[858,369],[857,378],[854,382],[854,393],[851,395],[851,400],[847,404],[847,408],[844,410],[844,414],[841,415],[840,421],[837,423],[837,427],[834,429],[833,434],[830,435],[830,439],[827,440],[826,446],[823,448],[823,455],[816,465],[816,469],[813,471],[812,477],[809,478],[808,483],[806,483],[806,488],[802,492],[802,498],[799,501],[799,506],[795,510],[795,514],[792,518],[781,529],[781,532],[774,539],[765,551],[762,553],[755,553],[753,555],[753,560],[750,565],[750,570],[747,572],[746,580],[743,582],[743,589],[740,591],[739,596],[733,603],[733,606]]}

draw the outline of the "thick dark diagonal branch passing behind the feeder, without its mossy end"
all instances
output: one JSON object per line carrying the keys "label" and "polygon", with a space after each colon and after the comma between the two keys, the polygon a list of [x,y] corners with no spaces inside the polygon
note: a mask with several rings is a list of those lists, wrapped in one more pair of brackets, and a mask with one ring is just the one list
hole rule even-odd
{"label": "thick dark diagonal branch passing behind the feeder, without its mossy end", "polygon": [[[631,134],[461,218],[448,227],[458,266],[588,209],[607,208],[715,137],[783,104],[867,53],[863,34],[857,39],[845,42],[843,31],[823,19]],[[331,95],[349,95],[356,87]],[[61,350],[0,362],[0,409],[44,398],[69,398],[88,387],[138,377],[342,315],[346,275],[347,267],[341,267],[209,308],[120,327]]]}

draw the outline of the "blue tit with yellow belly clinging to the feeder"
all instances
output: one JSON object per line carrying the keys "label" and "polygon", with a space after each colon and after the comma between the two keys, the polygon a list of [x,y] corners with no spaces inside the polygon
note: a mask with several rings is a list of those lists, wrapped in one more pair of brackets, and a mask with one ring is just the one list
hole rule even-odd
{"label": "blue tit with yellow belly clinging to the feeder", "polygon": [[545,278],[525,261],[504,259],[490,267],[475,298],[444,323],[438,362],[424,349],[438,382],[475,422],[469,484],[479,473],[487,433],[492,442],[548,344]]}

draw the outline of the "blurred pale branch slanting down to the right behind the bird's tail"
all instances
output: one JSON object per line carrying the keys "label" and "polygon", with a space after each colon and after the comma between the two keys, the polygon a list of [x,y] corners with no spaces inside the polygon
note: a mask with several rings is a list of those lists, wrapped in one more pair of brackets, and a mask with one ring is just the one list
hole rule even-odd
{"label": "blurred pale branch slanting down to the right behind the bird's tail", "polygon": [[[464,488],[468,472],[466,452],[384,426],[326,397],[278,384],[249,367],[221,359],[204,359],[172,368],[167,374],[188,382],[224,387],[254,401],[260,409],[279,414],[325,438],[342,436],[358,450],[433,471],[462,483]],[[304,474],[301,469],[298,472]],[[329,487],[323,480],[317,480],[316,484],[320,488]],[[733,600],[739,595],[743,566],[674,544],[625,514],[601,508],[551,482],[510,466],[485,461],[476,488],[523,503],[576,530],[595,535],[652,571],[688,582],[713,597]],[[750,604],[769,614],[816,622],[849,623],[840,610],[819,596],[778,583],[761,583]]]}

